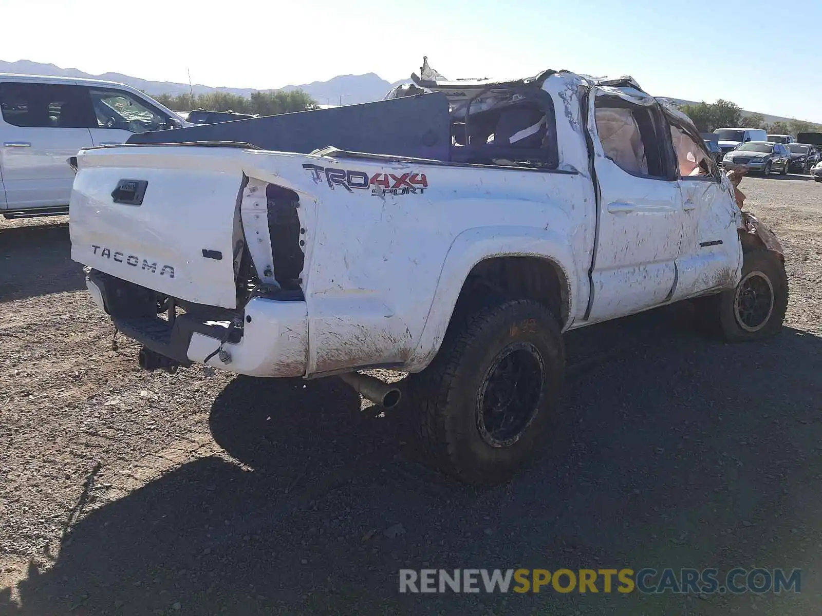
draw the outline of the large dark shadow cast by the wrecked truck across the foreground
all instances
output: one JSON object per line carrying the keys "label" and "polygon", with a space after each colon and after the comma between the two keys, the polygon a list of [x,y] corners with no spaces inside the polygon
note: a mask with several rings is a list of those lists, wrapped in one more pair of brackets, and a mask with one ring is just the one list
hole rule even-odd
{"label": "large dark shadow cast by the wrecked truck across the foreground", "polygon": [[[689,318],[658,310],[570,333],[566,446],[491,490],[424,471],[408,413],[361,410],[339,381],[234,379],[210,415],[229,457],[184,464],[90,513],[53,568],[30,570],[20,605],[6,591],[0,608],[727,614],[734,604],[716,597],[398,592],[404,567],[813,565],[818,550],[801,549],[820,531],[806,486],[820,473],[822,341],[786,328],[726,345]],[[804,579],[807,603],[767,600],[805,614],[819,590]]]}

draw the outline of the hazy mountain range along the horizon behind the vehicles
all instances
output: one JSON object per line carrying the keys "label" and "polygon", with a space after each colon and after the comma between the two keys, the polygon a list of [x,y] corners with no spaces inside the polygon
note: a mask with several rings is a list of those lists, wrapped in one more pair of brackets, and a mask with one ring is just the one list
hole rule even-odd
{"label": "hazy mountain range along the horizon behind the vehicles", "polygon": [[[90,75],[89,73],[80,71],[76,68],[60,68],[54,64],[44,64],[41,62],[32,62],[30,60],[18,60],[17,62],[4,62],[0,60],[0,73],[19,73],[23,75],[48,75],[118,81],[119,83],[131,85],[132,88],[143,90],[144,92],[154,96],[159,94],[188,94],[191,90],[194,90],[194,94],[227,92],[229,94],[248,96],[252,92],[256,91],[253,88],[214,87],[211,85],[202,84],[193,84],[190,86],[188,84],[174,83],[173,81],[151,81],[141,79],[139,77],[122,75],[121,73]],[[390,81],[382,79],[381,76],[376,75],[376,73],[366,73],[365,75],[338,75],[327,81],[312,81],[310,84],[286,85],[283,88],[277,88],[275,90],[303,90],[311,96],[312,99],[316,100],[317,103],[322,105],[351,105],[358,103],[370,103],[374,100],[380,100],[395,85],[408,83],[409,81],[410,79],[406,79],[391,83]],[[672,98],[669,100],[677,104],[695,104],[694,101],[683,99]],[[746,111],[745,113],[747,114],[752,112]],[[791,120],[789,117],[772,116],[765,113],[762,115],[764,116],[764,121],[768,123],[789,122]]]}

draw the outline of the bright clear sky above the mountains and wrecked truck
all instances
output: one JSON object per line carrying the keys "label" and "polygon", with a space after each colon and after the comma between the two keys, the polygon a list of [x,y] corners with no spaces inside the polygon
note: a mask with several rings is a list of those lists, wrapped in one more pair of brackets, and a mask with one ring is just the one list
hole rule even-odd
{"label": "bright clear sky above the mountains and wrecked truck", "polygon": [[631,75],[822,122],[822,0],[0,0],[0,59],[258,89],[418,70]]}

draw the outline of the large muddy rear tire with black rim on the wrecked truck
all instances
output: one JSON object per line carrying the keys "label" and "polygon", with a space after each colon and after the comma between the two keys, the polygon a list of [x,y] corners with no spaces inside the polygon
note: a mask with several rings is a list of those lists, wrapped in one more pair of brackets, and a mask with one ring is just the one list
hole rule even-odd
{"label": "large muddy rear tire with black rim on the wrecked truck", "polygon": [[461,313],[432,363],[409,377],[409,411],[418,413],[423,462],[469,485],[495,485],[546,439],[565,349],[556,319],[536,301]]}

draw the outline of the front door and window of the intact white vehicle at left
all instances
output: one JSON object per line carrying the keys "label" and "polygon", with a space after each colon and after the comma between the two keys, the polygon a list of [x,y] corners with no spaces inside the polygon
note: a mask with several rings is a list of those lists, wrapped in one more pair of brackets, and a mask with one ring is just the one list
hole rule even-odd
{"label": "front door and window of the intact white vehicle at left", "polygon": [[95,145],[124,144],[136,133],[162,131],[168,126],[168,114],[136,94],[118,88],[84,87],[95,113],[91,129]]}

